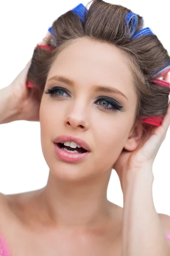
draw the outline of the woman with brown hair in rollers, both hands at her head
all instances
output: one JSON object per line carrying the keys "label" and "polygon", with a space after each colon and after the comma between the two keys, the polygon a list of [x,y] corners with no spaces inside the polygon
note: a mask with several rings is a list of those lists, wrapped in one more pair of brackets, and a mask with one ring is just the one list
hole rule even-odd
{"label": "woman with brown hair in rollers, both hands at her head", "polygon": [[[151,81],[170,57],[155,35],[130,39],[129,12],[95,0],[84,21],[72,11],[62,15],[43,43],[51,50],[37,47],[0,90],[1,124],[40,120],[50,169],[44,188],[1,194],[4,255],[170,256],[170,217],[157,214],[152,198],[170,89]],[[133,33],[142,29],[137,17]],[[27,74],[39,90],[26,88]],[[159,127],[141,121],[157,115],[164,116]],[[107,199],[112,168],[123,208]]]}

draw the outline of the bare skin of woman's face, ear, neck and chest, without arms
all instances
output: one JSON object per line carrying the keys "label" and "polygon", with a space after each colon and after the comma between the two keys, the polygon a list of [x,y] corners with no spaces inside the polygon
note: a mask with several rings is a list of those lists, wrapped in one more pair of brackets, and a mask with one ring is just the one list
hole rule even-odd
{"label": "bare skin of woman's face, ear, neck and chest, without arms", "polygon": [[[74,86],[48,81],[53,76],[65,76]],[[127,99],[95,92],[98,85],[115,87]],[[130,70],[116,47],[81,38],[54,61],[45,90],[53,86],[65,88],[71,97],[42,96],[41,144],[50,169],[48,183],[34,192],[0,196],[1,234],[13,256],[120,256],[122,208],[108,201],[107,188],[122,149],[133,150],[141,136],[139,129],[132,131],[137,96]],[[95,103],[99,96],[115,99],[125,111],[106,111]],[[91,147],[88,157],[74,164],[59,160],[53,140],[62,134],[84,139]]]}

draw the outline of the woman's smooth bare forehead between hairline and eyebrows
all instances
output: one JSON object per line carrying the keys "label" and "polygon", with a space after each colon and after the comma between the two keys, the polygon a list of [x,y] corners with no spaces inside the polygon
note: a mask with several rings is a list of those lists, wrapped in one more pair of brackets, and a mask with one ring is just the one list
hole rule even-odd
{"label": "woman's smooth bare forehead between hairline and eyebrows", "polygon": [[111,44],[80,38],[62,49],[49,73],[66,76],[77,84],[107,84],[117,87],[129,98],[135,90],[132,75],[122,52]]}

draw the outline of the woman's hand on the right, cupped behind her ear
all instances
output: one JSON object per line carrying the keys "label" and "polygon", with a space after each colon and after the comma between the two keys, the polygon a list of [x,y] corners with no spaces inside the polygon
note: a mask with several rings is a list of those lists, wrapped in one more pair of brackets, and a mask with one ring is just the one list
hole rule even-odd
{"label": "woman's hand on the right, cupped behind her ear", "polygon": [[[170,74],[164,76],[164,80],[169,82]],[[168,105],[167,113],[164,116],[163,122],[160,126],[152,127],[151,125],[148,126],[144,124],[146,132],[142,134],[139,146],[136,148],[136,150],[122,150],[120,156],[113,165],[113,169],[116,170],[119,176],[123,193],[125,192],[128,182],[131,180],[132,176],[134,177],[134,175],[140,172],[140,170],[152,170],[156,154],[159,151],[161,143],[166,137],[169,125],[170,103]]]}

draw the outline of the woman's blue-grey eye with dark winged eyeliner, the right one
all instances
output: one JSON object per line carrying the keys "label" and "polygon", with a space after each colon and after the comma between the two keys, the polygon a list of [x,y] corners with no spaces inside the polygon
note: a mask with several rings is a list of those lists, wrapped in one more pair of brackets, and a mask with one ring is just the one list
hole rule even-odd
{"label": "woman's blue-grey eye with dark winged eyeliner, the right one", "polygon": [[106,111],[124,111],[123,106],[120,106],[115,100],[109,97],[99,98],[95,103],[99,108],[103,108]]}

